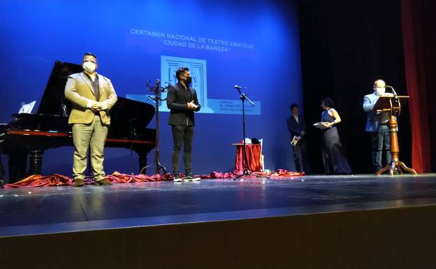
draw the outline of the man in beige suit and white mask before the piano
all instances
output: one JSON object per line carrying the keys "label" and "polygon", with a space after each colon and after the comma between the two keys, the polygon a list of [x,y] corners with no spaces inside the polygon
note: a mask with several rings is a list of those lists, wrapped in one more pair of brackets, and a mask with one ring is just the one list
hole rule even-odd
{"label": "man in beige suit and white mask before the piano", "polygon": [[104,179],[103,149],[110,125],[109,110],[117,102],[117,94],[112,82],[96,73],[94,54],[85,54],[82,67],[84,71],[70,75],[65,86],[65,97],[72,104],[68,124],[73,126],[74,186],[84,184],[88,148],[95,184],[111,184]]}

